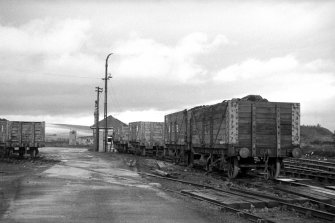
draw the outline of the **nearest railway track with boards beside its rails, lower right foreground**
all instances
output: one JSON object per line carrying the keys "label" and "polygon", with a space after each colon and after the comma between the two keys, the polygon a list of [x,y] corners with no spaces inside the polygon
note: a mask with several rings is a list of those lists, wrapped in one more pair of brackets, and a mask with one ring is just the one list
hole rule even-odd
{"label": "nearest railway track with boards beside its rails, lower right foreground", "polygon": [[[250,201],[251,199],[258,199],[258,200],[263,200],[264,201],[264,199],[266,199],[267,201],[277,202],[277,204],[279,206],[286,207],[287,209],[290,209],[290,210],[295,210],[296,212],[299,212],[300,214],[303,214],[303,215],[315,217],[315,218],[330,221],[330,222],[335,221],[335,206],[332,205],[332,204],[325,203],[325,202],[318,201],[318,200],[314,200],[314,199],[307,199],[306,198],[304,200],[304,202],[310,202],[310,203],[318,206],[322,210],[304,207],[304,206],[301,206],[299,204],[293,204],[290,201],[289,201],[290,202],[289,203],[287,201],[287,199],[266,195],[265,193],[241,190],[241,189],[238,189],[238,188],[231,188],[230,190],[223,190],[223,189],[218,189],[216,187],[207,186],[207,185],[203,185],[203,184],[198,184],[198,183],[194,183],[194,182],[157,176],[155,174],[148,174],[148,173],[142,173],[142,174],[147,175],[147,176],[151,176],[151,177],[160,178],[160,179],[165,179],[165,180],[170,180],[170,181],[175,181],[175,182],[179,182],[179,183],[183,183],[183,184],[192,185],[192,186],[201,188],[202,190],[203,189],[210,189],[210,190],[213,190],[213,191],[220,192],[222,194],[228,194],[230,196],[240,196],[240,197],[243,197],[242,198],[243,200],[249,200]],[[196,199],[202,199],[202,200],[206,200],[206,201],[209,201],[211,203],[214,203],[214,204],[219,204],[220,206],[223,206],[226,210],[232,211],[234,213],[241,212],[241,210],[239,210],[238,208],[233,208],[233,207],[227,205],[227,203],[222,202],[220,199],[213,198],[213,194],[208,195],[207,194],[208,191],[195,191],[195,192],[194,191],[193,192],[192,191],[191,192],[190,191],[182,191],[182,192],[178,191],[178,193],[181,193],[181,194],[184,194],[184,195],[187,194],[187,196],[195,197]],[[289,193],[289,192],[287,192],[287,193]],[[222,195],[218,194],[218,196],[222,196]],[[241,199],[241,198],[239,198],[239,199]],[[335,201],[335,199],[334,199],[334,201]],[[323,210],[327,210],[327,211],[323,211]],[[242,211],[242,212],[243,213],[241,214],[241,216],[245,216],[247,219],[249,219],[251,221],[276,222],[275,220],[268,219],[268,218],[265,218],[265,217],[262,217],[262,216],[258,216],[257,214],[252,214],[252,216],[249,216],[249,214],[250,214],[249,212],[246,212],[246,211]],[[246,212],[248,215],[245,215],[244,212]]]}

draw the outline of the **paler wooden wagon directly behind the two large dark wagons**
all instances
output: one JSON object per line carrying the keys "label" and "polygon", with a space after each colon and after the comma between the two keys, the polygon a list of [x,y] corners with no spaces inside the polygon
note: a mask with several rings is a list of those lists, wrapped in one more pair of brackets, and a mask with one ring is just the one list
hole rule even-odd
{"label": "paler wooden wagon directly behind the two large dark wagons", "polygon": [[129,151],[135,154],[159,155],[164,148],[164,122],[129,123]]}

